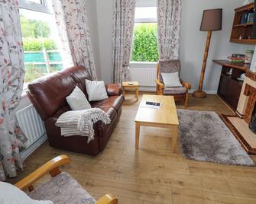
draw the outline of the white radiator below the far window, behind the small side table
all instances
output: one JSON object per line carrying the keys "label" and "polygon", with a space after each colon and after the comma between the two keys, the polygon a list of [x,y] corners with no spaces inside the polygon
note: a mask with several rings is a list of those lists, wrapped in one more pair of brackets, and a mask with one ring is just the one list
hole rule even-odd
{"label": "white radiator below the far window, behind the small side table", "polygon": [[155,68],[130,68],[130,78],[142,87],[155,87],[157,71]]}

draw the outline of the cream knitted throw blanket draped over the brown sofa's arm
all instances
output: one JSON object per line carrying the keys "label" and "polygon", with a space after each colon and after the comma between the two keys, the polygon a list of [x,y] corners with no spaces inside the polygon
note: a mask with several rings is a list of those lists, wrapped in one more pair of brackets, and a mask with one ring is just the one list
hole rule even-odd
{"label": "cream knitted throw blanket draped over the brown sofa's arm", "polygon": [[89,143],[94,139],[93,124],[99,120],[104,124],[111,122],[109,115],[99,108],[70,110],[59,117],[55,126],[60,127],[63,136],[86,136],[88,137],[87,143]]}

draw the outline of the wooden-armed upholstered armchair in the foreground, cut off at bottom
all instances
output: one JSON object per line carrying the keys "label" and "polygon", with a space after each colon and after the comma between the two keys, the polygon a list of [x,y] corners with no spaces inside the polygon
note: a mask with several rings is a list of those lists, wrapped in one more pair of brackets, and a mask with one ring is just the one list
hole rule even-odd
{"label": "wooden-armed upholstered armchair in the foreground, cut off at bottom", "polygon": [[[39,167],[32,174],[25,177],[15,186],[20,190],[29,190],[31,199],[50,200],[53,203],[88,203],[88,204],[117,204],[118,199],[111,194],[102,196],[96,201],[70,174],[60,172],[60,166],[70,164],[70,158],[66,155],[58,156]],[[34,183],[50,174],[52,179],[34,189]]]}

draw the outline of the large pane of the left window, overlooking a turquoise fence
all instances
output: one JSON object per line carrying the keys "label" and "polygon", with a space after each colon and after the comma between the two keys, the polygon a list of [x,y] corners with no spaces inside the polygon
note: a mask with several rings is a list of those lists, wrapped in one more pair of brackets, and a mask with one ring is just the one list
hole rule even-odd
{"label": "large pane of the left window, overlooking a turquoise fence", "polygon": [[36,78],[63,69],[57,48],[57,30],[53,14],[20,9],[24,44],[25,79]]}

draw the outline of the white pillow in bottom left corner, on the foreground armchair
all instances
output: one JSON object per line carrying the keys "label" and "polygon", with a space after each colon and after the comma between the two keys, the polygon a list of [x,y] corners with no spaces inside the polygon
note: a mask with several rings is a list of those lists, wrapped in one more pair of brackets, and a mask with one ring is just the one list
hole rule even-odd
{"label": "white pillow in bottom left corner, on the foreground armchair", "polygon": [[53,204],[48,200],[31,199],[26,193],[10,183],[0,182],[0,203],[2,204]]}

